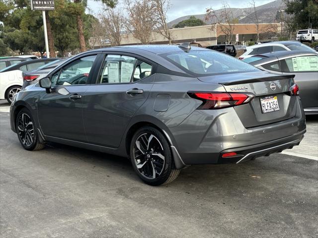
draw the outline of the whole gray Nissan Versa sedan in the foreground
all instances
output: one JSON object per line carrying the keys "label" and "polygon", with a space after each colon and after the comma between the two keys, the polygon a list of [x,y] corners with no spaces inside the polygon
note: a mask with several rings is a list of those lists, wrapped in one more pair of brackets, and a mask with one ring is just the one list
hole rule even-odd
{"label": "whole gray Nissan Versa sedan in the foreground", "polygon": [[21,90],[11,129],[26,150],[52,141],[129,157],[160,185],[188,165],[298,145],[306,123],[293,77],[186,43],[99,49]]}

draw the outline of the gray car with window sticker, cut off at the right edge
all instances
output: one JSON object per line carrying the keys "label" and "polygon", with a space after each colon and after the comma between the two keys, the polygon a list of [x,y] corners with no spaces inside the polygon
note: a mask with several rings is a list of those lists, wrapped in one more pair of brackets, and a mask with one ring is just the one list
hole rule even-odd
{"label": "gray car with window sticker, cut off at the right edge", "polygon": [[253,56],[243,61],[271,73],[293,75],[305,114],[318,114],[318,53],[280,51]]}

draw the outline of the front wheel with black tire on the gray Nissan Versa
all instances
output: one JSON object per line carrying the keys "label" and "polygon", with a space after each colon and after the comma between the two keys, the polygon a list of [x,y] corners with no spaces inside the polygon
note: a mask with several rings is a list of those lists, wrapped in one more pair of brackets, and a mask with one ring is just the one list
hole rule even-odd
{"label": "front wheel with black tire on the gray Nissan Versa", "polygon": [[15,121],[16,133],[19,141],[26,150],[41,150],[45,144],[40,143],[39,134],[28,109],[23,108]]}

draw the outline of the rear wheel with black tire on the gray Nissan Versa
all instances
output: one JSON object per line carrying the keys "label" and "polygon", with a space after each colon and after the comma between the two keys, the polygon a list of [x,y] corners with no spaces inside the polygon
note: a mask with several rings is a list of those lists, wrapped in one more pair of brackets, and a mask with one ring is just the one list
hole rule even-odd
{"label": "rear wheel with black tire on the gray Nissan Versa", "polygon": [[167,139],[151,126],[142,127],[134,134],[130,144],[130,158],[135,172],[149,185],[167,184],[180,173],[174,167]]}

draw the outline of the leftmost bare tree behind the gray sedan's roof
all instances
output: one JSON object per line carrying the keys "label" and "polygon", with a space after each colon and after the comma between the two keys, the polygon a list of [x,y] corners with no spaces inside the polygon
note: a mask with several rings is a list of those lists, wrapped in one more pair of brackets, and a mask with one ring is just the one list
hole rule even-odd
{"label": "leftmost bare tree behind the gray sedan's roof", "polygon": [[121,42],[121,32],[125,26],[125,17],[120,9],[106,8],[100,13],[102,31],[104,32],[103,40],[110,39],[111,46],[119,46]]}

